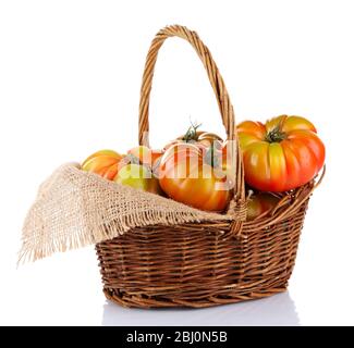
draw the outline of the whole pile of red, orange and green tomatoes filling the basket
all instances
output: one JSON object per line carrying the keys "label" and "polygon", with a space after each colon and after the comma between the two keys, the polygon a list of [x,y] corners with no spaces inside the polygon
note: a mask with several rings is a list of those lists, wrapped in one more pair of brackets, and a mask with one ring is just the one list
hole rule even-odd
{"label": "whole pile of red, orange and green tomatoes filling the basket", "polygon": [[[222,212],[235,184],[235,144],[198,127],[192,125],[161,150],[138,146],[125,154],[95,152],[82,169],[200,210]],[[235,133],[245,182],[258,192],[249,200],[248,220],[270,211],[279,192],[310,182],[324,165],[325,146],[304,117],[281,115],[265,124],[245,121]]]}

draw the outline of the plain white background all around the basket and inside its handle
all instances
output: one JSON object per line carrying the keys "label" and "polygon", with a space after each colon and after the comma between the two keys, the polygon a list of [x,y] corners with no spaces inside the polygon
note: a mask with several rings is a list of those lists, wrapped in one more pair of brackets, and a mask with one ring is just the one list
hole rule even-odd
{"label": "plain white background all around the basket and inside its handle", "polygon": [[[354,324],[352,1],[1,1],[0,324]],[[139,83],[150,40],[168,24],[198,32],[237,121],[310,119],[327,175],[305,221],[289,293],[206,310],[108,303],[93,247],[16,270],[24,216],[60,164],[137,144]],[[223,134],[207,75],[180,39],[162,48],[151,144],[190,116]]]}

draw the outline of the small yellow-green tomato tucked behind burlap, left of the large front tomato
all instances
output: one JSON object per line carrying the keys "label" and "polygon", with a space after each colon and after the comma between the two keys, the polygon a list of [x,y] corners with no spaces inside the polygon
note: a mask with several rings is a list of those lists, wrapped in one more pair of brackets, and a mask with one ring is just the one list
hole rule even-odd
{"label": "small yellow-green tomato tucked behind burlap, left of the large front tomato", "polygon": [[114,182],[152,194],[160,194],[159,182],[146,165],[130,163],[122,166],[117,173]]}

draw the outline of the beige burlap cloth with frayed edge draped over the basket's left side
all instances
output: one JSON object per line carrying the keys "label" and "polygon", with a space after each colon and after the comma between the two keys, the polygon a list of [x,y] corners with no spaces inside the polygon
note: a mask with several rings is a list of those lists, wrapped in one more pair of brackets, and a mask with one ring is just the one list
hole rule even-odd
{"label": "beige burlap cloth with frayed edge draped over the basket's left side", "polygon": [[112,239],[137,226],[231,220],[60,166],[39,187],[23,226],[19,263]]}

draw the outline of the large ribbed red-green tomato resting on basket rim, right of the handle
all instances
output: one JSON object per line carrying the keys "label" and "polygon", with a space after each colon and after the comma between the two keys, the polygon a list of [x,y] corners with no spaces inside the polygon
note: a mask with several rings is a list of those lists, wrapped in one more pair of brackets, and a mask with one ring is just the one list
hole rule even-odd
{"label": "large ribbed red-green tomato resting on basket rim, right of the handle", "polygon": [[264,191],[286,191],[312,181],[325,162],[325,146],[304,117],[281,115],[236,127],[246,183]]}

